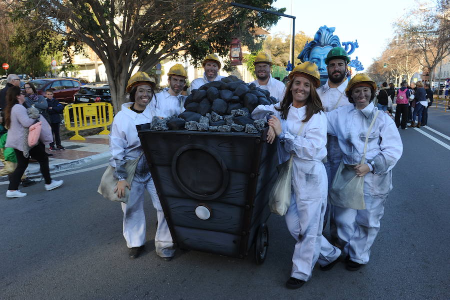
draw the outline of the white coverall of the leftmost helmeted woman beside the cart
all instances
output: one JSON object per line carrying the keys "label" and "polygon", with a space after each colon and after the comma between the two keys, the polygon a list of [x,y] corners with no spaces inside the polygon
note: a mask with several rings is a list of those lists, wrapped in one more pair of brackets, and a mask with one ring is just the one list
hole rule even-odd
{"label": "white coverall of the leftmost helmeted woman beside the cart", "polygon": [[[125,160],[136,159],[142,152],[140,140],[137,136],[136,125],[150,123],[154,113],[150,105],[138,114],[129,109],[133,103],[122,105],[112,123],[109,134],[109,148],[111,159],[109,163],[116,169],[117,178],[126,178],[123,174]],[[156,209],[158,225],[154,237],[156,253],[161,257],[170,257],[174,254],[172,237],[162,211],[159,198],[156,194],[153,179],[148,170],[145,155],[142,155],[136,167],[132,182],[129,182],[128,204],[121,203],[123,211],[123,236],[126,246],[139,247],[145,243],[145,214],[143,210],[144,191],[150,194],[151,201]]]}

